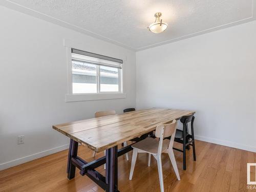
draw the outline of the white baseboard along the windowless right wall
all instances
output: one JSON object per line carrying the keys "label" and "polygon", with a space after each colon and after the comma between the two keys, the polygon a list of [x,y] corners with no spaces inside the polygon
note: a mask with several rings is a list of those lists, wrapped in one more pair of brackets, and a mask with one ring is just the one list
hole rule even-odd
{"label": "white baseboard along the windowless right wall", "polygon": [[224,140],[220,140],[220,139],[209,138],[209,137],[198,136],[198,135],[195,135],[195,139],[200,140],[200,141],[206,141],[209,143],[215,143],[215,144],[220,144],[220,145],[224,145],[224,146],[229,146],[229,147],[233,147],[233,148],[239,148],[240,150],[245,150],[245,151],[256,153],[256,146],[250,146],[250,145],[245,145],[245,144],[241,144],[241,143],[233,143],[230,141],[224,141]]}

